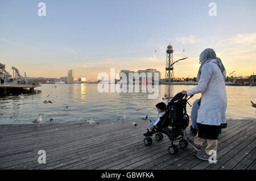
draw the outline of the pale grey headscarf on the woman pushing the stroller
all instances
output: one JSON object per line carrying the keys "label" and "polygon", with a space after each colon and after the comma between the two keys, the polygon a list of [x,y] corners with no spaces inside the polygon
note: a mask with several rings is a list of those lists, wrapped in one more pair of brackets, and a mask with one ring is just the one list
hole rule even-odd
{"label": "pale grey headscarf on the woman pushing the stroller", "polygon": [[203,68],[204,64],[207,64],[209,62],[213,62],[215,64],[218,65],[218,68],[220,68],[221,73],[224,77],[224,80],[226,79],[226,70],[224,65],[222,64],[220,58],[216,57],[216,53],[214,52],[214,50],[212,48],[207,48],[205,49],[199,57],[199,60],[201,61],[201,66],[199,68],[199,71],[197,73],[197,81],[200,80],[200,76],[201,76],[201,69]]}

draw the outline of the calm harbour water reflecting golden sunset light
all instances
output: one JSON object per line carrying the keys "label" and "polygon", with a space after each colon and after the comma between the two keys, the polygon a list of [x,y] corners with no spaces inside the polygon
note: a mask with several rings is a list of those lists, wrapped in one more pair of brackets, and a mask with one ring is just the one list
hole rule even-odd
{"label": "calm harbour water reflecting golden sunset light", "polygon": [[[155,104],[163,102],[164,94],[174,96],[181,90],[188,90],[193,85],[159,85],[159,96],[148,99],[148,92],[113,92],[100,93],[97,84],[59,84],[42,85],[37,92],[24,92],[24,98],[17,94],[0,98],[0,124],[31,124],[39,113],[44,123],[79,122],[79,117],[95,121],[117,121],[126,113],[127,121],[140,121],[148,115],[156,116]],[[256,108],[251,107],[250,100],[256,102],[256,87],[226,86],[228,95],[227,119],[255,119]],[[47,95],[49,98],[47,98]],[[192,103],[200,98],[200,94],[189,100]],[[44,100],[53,103],[44,104]],[[69,106],[68,109],[65,105]],[[136,111],[136,110],[139,111]],[[191,107],[187,107],[191,113]],[[15,118],[17,121],[14,121]],[[49,121],[53,118],[54,121]]]}

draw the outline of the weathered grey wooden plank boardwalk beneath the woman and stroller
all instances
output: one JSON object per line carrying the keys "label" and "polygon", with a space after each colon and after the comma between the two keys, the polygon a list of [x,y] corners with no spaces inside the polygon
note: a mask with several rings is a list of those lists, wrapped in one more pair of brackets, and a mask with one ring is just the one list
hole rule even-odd
{"label": "weathered grey wooden plank boardwalk beneath the woman and stroller", "polygon": [[[216,164],[201,161],[191,145],[171,155],[171,142],[145,146],[149,121],[0,125],[0,169],[256,169],[256,120],[228,120],[218,140]],[[188,136],[193,136],[187,131]],[[177,144],[177,143],[176,143]],[[180,148],[180,147],[179,147]],[[38,151],[46,151],[46,164]]]}

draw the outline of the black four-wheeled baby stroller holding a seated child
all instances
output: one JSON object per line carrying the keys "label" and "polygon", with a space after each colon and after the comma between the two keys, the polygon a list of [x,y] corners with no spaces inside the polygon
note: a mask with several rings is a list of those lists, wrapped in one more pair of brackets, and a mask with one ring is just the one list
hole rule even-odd
{"label": "black four-wheeled baby stroller holding a seated child", "polygon": [[[166,113],[160,118],[159,123],[152,132],[155,134],[155,138],[158,141],[163,139],[163,134],[166,134],[170,138],[171,146],[169,146],[168,150],[171,154],[177,154],[179,150],[177,145],[174,145],[174,141],[176,140],[180,140],[179,145],[181,148],[188,146],[188,141],[183,138],[184,134],[187,136],[185,129],[189,124],[189,116],[187,115],[186,105],[188,100],[192,98],[193,95],[191,95],[188,99],[187,95],[185,98],[184,96],[185,95],[182,95],[181,92],[179,92],[174,96],[174,98],[172,98],[164,110]],[[191,105],[189,104],[189,106]],[[144,138],[144,144],[146,146],[151,145],[152,138],[148,136]]]}

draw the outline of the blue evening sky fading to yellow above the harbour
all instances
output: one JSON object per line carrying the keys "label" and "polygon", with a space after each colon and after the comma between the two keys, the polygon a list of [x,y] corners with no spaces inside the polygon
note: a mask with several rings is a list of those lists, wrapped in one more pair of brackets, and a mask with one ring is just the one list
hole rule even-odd
{"label": "blue evening sky fading to yellow above the harbour", "polygon": [[[39,16],[39,2],[46,16]],[[217,16],[209,16],[210,2]],[[227,75],[256,74],[256,1],[1,0],[0,62],[27,77],[96,81],[98,73],[157,69],[174,47],[175,77],[196,77],[199,55],[213,48]],[[184,52],[183,52],[184,49]],[[156,52],[155,52],[156,50]]]}

